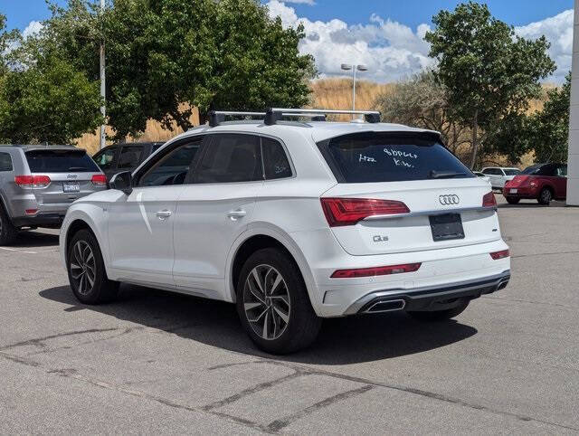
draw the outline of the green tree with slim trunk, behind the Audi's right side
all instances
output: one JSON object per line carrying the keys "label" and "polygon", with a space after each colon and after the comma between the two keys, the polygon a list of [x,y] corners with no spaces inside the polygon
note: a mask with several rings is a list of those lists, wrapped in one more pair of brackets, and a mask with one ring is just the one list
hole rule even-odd
{"label": "green tree with slim trunk, behind the Audi's right side", "polygon": [[439,62],[437,78],[449,90],[452,117],[471,127],[473,167],[479,143],[501,118],[528,109],[528,100],[540,95],[539,81],[555,71],[555,63],[545,37],[517,36],[487,5],[460,4],[434,15],[432,22],[436,27],[425,40]]}

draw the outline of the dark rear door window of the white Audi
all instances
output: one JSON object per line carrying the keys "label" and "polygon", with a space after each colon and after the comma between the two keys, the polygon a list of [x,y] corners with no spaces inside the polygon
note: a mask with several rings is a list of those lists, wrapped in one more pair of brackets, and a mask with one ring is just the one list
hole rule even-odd
{"label": "dark rear door window of the white Audi", "polygon": [[195,183],[262,180],[260,148],[260,137],[254,135],[214,135],[196,168]]}

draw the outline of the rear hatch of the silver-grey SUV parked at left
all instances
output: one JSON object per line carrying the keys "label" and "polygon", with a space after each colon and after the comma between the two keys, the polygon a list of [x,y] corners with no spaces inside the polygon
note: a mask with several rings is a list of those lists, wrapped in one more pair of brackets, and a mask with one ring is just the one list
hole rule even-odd
{"label": "rear hatch of the silver-grey SUV parked at left", "polygon": [[50,147],[25,152],[39,204],[70,204],[106,187],[99,166],[84,150]]}

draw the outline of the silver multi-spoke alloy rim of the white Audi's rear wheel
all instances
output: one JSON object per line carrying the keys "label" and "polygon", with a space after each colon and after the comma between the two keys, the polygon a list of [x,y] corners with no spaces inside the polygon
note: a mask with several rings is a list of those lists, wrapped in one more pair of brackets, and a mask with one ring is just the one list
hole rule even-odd
{"label": "silver multi-spoke alloy rim of the white Audi's rear wheel", "polygon": [[256,335],[267,340],[280,337],[288,327],[290,306],[280,271],[264,264],[251,270],[243,287],[243,308]]}

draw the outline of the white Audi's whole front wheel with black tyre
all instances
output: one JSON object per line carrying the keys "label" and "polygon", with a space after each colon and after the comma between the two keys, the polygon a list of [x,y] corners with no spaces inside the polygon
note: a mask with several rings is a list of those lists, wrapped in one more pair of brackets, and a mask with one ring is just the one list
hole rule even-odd
{"label": "white Audi's whole front wheel with black tyre", "polygon": [[99,242],[88,230],[81,230],[71,238],[67,269],[72,292],[81,303],[100,304],[117,297],[119,282],[107,277]]}

